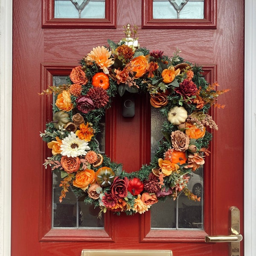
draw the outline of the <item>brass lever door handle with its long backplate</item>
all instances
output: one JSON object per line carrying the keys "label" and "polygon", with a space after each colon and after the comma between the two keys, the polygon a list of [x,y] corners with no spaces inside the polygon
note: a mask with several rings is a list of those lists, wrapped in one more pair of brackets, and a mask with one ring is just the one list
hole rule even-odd
{"label": "brass lever door handle with its long backplate", "polygon": [[[243,236],[240,234],[240,211],[237,207],[230,207],[230,235],[229,236],[205,236],[207,243],[230,242],[230,256],[240,255],[240,244]],[[236,254],[234,254],[236,253]]]}

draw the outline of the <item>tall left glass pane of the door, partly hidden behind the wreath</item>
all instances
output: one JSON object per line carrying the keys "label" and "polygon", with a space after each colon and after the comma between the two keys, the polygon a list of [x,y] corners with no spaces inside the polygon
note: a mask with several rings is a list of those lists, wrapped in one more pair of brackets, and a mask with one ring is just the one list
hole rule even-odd
{"label": "tall left glass pane of the door, partly hidden behind the wreath", "polygon": [[[61,84],[66,84],[66,76],[53,76],[53,85]],[[100,125],[102,125],[102,134],[96,136],[96,140],[99,142],[101,153],[104,154],[105,120],[102,120]],[[85,204],[83,197],[76,197],[70,191],[60,203],[62,187],[59,184],[62,180],[60,172],[52,172],[52,228],[103,228],[104,214],[102,218],[98,218],[99,207],[94,208],[93,205]],[[70,187],[69,190],[72,190]]]}

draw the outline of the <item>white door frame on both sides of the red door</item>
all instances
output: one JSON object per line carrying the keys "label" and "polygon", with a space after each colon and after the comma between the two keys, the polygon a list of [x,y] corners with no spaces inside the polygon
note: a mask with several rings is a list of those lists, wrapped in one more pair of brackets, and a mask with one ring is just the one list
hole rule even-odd
{"label": "white door frame on both sides of the red door", "polygon": [[[0,256],[11,255],[12,1],[0,0]],[[256,1],[245,0],[244,244],[256,255]]]}

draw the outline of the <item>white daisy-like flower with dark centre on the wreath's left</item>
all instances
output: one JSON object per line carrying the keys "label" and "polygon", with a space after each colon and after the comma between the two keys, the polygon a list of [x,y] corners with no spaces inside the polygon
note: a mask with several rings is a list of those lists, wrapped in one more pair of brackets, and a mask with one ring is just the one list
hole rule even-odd
{"label": "white daisy-like flower with dark centre on the wreath's left", "polygon": [[80,140],[73,132],[62,140],[61,154],[63,156],[78,157],[86,155],[86,150],[90,150],[88,143],[85,140]]}

